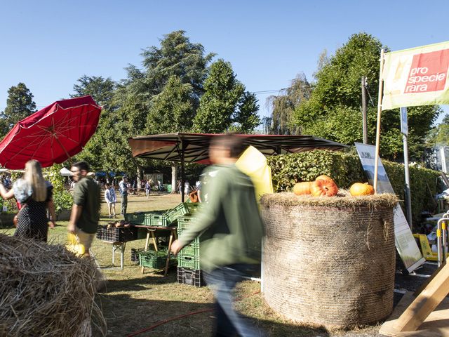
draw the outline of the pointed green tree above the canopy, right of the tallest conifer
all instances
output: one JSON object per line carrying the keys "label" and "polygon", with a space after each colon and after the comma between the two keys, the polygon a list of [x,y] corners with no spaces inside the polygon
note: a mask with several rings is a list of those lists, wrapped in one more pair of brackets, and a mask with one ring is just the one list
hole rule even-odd
{"label": "pointed green tree above the canopy, right of the tallest conifer", "polygon": [[195,131],[222,133],[234,123],[236,131],[249,132],[260,124],[257,99],[236,79],[231,63],[220,59],[210,65],[204,91],[194,119]]}

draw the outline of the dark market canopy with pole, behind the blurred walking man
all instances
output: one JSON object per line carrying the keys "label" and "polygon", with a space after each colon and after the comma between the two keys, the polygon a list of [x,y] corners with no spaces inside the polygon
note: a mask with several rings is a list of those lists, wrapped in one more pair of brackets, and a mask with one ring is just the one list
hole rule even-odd
{"label": "dark market canopy with pole, behind the blurred walking man", "polygon": [[[166,133],[128,138],[133,157],[177,161],[181,163],[182,201],[184,201],[185,163],[210,164],[208,147],[216,133]],[[265,156],[310,150],[343,150],[343,145],[314,136],[236,135]]]}

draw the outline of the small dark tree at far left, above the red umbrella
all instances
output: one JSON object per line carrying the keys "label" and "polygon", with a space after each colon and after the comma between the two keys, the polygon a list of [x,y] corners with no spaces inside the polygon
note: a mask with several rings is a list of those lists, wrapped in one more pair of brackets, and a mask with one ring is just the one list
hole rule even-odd
{"label": "small dark tree at far left, above the red umbrella", "polygon": [[29,88],[23,83],[11,86],[8,89],[5,111],[1,114],[1,118],[4,119],[3,123],[1,123],[3,124],[1,125],[3,126],[1,136],[5,136],[14,124],[34,112],[36,112],[36,103],[34,103],[33,95]]}

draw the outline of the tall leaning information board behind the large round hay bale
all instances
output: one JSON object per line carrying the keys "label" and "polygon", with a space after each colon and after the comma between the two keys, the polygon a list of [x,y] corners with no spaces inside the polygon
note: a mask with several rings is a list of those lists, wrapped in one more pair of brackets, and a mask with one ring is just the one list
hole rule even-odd
{"label": "tall leaning information board behind the large round hay bale", "polygon": [[[368,176],[370,184],[373,184],[374,167],[375,167],[375,146],[356,143],[358,157],[360,158],[363,170]],[[388,179],[387,172],[379,158],[377,176],[377,193],[393,193],[394,190]],[[422,265],[426,260],[422,257],[413,233],[408,226],[406,216],[399,204],[394,208],[394,239],[396,249],[408,272],[413,272],[417,267]]]}

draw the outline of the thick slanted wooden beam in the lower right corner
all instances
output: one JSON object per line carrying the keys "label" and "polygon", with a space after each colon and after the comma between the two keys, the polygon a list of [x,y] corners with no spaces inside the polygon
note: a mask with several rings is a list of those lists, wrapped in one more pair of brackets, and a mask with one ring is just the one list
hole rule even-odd
{"label": "thick slanted wooden beam in the lower right corner", "polygon": [[445,265],[429,285],[396,321],[397,331],[416,331],[432,311],[448,296],[449,265]]}

